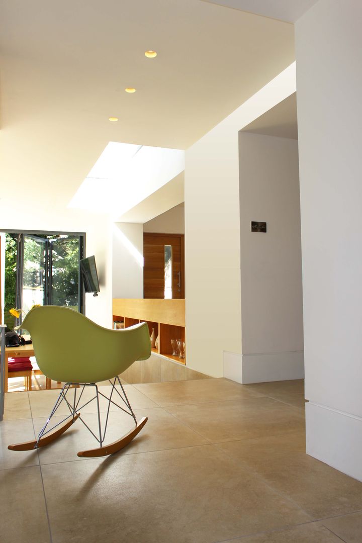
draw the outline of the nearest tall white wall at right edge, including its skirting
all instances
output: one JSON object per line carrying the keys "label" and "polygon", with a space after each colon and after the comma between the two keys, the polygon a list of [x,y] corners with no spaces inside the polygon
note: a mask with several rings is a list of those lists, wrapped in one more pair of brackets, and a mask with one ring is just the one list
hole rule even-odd
{"label": "nearest tall white wall at right edge, including its skirting", "polygon": [[362,480],[362,4],[296,24],[307,452]]}

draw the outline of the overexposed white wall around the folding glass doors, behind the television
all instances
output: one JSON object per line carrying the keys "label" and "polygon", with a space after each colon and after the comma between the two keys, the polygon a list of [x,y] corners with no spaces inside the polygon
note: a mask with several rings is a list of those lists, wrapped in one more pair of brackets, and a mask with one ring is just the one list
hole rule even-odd
{"label": "overexposed white wall around the folding glass doors, behind the television", "polygon": [[[31,212],[20,204],[16,213],[8,206],[1,208],[1,231],[85,232],[86,256],[96,257],[100,293],[96,298],[86,294],[86,315],[105,327],[112,326],[112,237],[106,216],[73,210]],[[22,209],[23,206],[23,209]]]}

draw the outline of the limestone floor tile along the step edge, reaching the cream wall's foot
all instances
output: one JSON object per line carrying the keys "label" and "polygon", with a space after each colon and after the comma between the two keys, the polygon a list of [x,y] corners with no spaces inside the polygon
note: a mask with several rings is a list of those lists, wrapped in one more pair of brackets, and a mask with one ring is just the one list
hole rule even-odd
{"label": "limestone floor tile along the step edge, reaching the cream wall's foot", "polygon": [[261,396],[224,378],[136,384],[135,387],[161,407]]}

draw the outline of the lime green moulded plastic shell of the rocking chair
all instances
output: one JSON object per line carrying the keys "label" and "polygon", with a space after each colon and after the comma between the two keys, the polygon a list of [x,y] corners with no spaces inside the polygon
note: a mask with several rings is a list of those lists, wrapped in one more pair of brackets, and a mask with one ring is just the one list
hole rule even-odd
{"label": "lime green moulded plastic shell of the rocking chair", "polygon": [[147,323],[110,330],[61,306],[35,307],[20,327],[29,331],[36,362],[54,381],[97,383],[151,356]]}

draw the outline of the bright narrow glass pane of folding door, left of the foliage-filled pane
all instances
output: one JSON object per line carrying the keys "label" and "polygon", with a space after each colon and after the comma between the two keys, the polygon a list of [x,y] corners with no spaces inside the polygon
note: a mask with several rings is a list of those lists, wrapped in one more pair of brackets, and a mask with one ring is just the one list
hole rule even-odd
{"label": "bright narrow glass pane of folding door, left of the foliage-filled pane", "polygon": [[46,294],[46,240],[24,236],[22,270],[22,309],[28,311],[35,304],[44,305]]}

